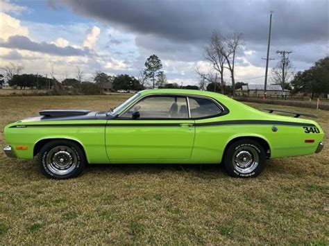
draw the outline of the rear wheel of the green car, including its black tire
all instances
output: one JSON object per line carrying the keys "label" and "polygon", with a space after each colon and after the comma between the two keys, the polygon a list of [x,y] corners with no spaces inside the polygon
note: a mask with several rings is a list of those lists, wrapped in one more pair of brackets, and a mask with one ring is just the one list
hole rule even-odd
{"label": "rear wheel of the green car, including its black tire", "polygon": [[224,164],[232,177],[256,177],[266,165],[266,152],[257,141],[242,139],[228,146]]}

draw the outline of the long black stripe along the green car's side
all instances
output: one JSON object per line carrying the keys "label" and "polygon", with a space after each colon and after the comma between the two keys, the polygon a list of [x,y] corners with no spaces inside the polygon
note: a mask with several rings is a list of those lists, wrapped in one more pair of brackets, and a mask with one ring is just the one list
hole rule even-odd
{"label": "long black stripe along the green car's side", "polygon": [[[236,120],[236,121],[214,121],[193,124],[197,127],[215,125],[291,125],[310,126],[312,123],[298,123],[289,121],[259,121],[259,120]],[[79,127],[178,127],[180,123],[87,123],[87,124],[34,124],[34,125],[12,125],[10,128],[79,128]]]}

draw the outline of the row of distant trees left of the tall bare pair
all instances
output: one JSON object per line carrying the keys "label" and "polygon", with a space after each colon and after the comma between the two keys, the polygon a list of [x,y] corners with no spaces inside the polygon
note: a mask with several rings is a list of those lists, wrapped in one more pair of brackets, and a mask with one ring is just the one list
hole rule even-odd
{"label": "row of distant trees left of the tall bare pair", "polygon": [[112,76],[103,71],[96,71],[92,81],[84,81],[85,73],[81,67],[76,67],[74,78],[64,78],[59,81],[55,76],[53,67],[51,67],[48,77],[32,73],[20,74],[24,67],[10,63],[2,69],[0,87],[6,78],[8,85],[12,88],[51,89],[55,91],[55,94],[61,94],[60,91],[62,93],[70,91],[73,94],[102,94],[103,88],[108,84],[111,85],[112,91],[140,91],[145,88],[199,89],[195,85],[182,86],[176,83],[168,83],[165,72],[161,71],[162,62],[157,55],[151,55],[147,58],[144,66],[138,78],[128,74]]}

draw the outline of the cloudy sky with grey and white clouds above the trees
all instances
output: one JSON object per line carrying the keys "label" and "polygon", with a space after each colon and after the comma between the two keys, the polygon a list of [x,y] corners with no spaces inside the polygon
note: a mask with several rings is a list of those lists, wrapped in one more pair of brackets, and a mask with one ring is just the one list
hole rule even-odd
{"label": "cloudy sky with grey and white clouds above the trees", "polygon": [[277,50],[293,52],[296,71],[328,55],[328,1],[0,0],[0,67],[43,75],[53,68],[58,80],[75,77],[76,67],[85,80],[99,70],[138,76],[155,53],[169,82],[197,84],[195,69],[208,70],[203,51],[218,30],[244,34],[236,80],[262,83],[269,11],[270,67]]}

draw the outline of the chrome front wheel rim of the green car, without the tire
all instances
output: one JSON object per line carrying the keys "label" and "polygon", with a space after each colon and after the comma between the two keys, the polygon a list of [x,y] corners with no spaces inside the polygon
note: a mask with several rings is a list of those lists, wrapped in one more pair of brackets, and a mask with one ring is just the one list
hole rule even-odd
{"label": "chrome front wheel rim of the green car, without the tire", "polygon": [[52,148],[46,157],[49,170],[56,175],[67,175],[78,165],[76,152],[67,146],[56,146]]}

